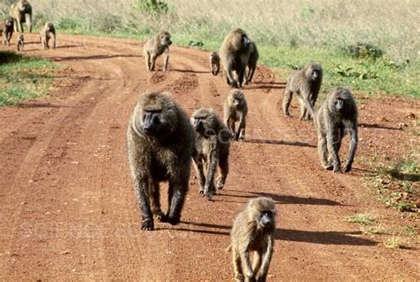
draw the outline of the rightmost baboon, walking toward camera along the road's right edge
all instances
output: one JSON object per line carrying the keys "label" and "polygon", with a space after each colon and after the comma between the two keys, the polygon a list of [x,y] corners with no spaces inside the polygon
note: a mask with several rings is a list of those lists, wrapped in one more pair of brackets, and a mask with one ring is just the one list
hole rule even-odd
{"label": "rightmost baboon, walking toward camera along the road's right edge", "polygon": [[[350,134],[350,145],[344,171],[352,169],[357,148],[357,106],[350,90],[337,87],[327,95],[316,116],[318,153],[323,168],[340,173],[338,152],[341,139]],[[328,158],[328,159],[327,159]],[[331,163],[332,162],[332,163]]]}

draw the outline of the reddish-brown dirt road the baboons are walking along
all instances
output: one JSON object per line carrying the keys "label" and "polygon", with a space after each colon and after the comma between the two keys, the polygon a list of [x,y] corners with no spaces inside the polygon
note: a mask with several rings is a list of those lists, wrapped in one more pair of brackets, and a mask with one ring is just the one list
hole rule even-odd
{"label": "reddish-brown dirt road the baboons are walking along", "polygon": [[[278,209],[269,281],[420,280],[418,241],[390,249],[384,236],[363,235],[344,220],[372,212],[385,226],[408,223],[372,199],[362,160],[375,152],[401,156],[409,138],[418,143],[406,117],[419,116],[417,101],[368,99],[354,170],[334,175],[320,167],[315,132],[298,120],[298,107],[292,119],[280,114],[284,80],[260,67],[245,86],[247,136],[231,146],[220,195],[207,202],[191,176],[183,223],[140,231],[125,142],[136,98],[165,89],[188,114],[198,106],[222,114],[225,80],[210,74],[204,51],[173,47],[169,72],[159,58],[149,73],[136,41],[60,35],[57,50],[42,51],[36,35],[27,39],[34,41],[27,55],[68,68],[49,96],[0,109],[1,280],[231,281],[229,229],[258,195],[271,196]],[[408,128],[398,129],[400,122]]]}

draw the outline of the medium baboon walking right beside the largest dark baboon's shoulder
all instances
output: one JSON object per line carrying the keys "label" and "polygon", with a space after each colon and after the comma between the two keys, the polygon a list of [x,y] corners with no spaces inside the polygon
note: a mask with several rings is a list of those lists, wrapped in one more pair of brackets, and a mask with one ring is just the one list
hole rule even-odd
{"label": "medium baboon walking right beside the largest dark baboon's shoulder", "polygon": [[220,168],[217,188],[223,188],[229,173],[229,129],[219,121],[212,109],[206,108],[195,111],[192,114],[191,123],[196,131],[192,159],[197,171],[199,193],[206,197],[206,200],[212,200],[216,193],[214,174],[217,164]]}

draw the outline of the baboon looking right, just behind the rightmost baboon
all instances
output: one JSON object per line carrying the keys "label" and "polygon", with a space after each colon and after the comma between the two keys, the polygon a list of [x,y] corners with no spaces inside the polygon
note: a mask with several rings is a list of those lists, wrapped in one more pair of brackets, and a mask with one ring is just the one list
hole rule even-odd
{"label": "baboon looking right, just behind the rightmost baboon", "polygon": [[319,63],[309,63],[306,67],[289,77],[284,90],[284,115],[291,115],[289,114],[289,106],[292,102],[292,94],[296,94],[300,101],[300,120],[311,120],[321,82],[323,82],[323,68]]}

